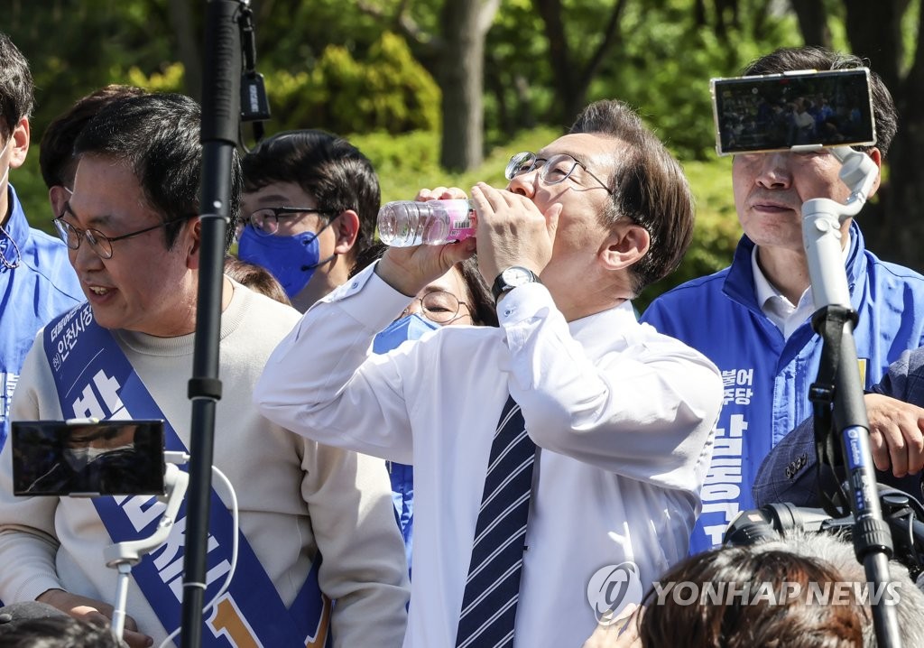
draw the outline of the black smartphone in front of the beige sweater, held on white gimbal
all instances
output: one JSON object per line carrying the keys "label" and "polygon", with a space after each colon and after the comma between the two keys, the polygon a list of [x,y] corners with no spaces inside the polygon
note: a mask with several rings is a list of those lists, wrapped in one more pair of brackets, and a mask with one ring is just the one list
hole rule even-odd
{"label": "black smartphone in front of the beige sweater, held on white gimbal", "polygon": [[164,495],[163,421],[14,421],[14,495]]}

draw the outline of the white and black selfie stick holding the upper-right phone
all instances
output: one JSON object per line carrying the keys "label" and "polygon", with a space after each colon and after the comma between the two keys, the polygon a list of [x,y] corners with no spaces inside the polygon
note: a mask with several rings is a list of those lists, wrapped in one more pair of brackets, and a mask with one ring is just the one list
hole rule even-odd
{"label": "white and black selfie stick holding the upper-right phone", "polygon": [[[808,256],[812,295],[821,308],[812,318],[825,347],[836,349],[833,430],[841,434],[841,451],[851,486],[848,499],[854,515],[854,552],[866,571],[867,581],[881,592],[889,579],[892,535],[882,520],[876,473],[869,451],[869,419],[857,362],[853,329],[857,313],[850,306],[844,270],[841,225],[860,211],[876,180],[879,167],[869,155],[846,146],[829,151],[842,163],[840,177],[851,189],[845,203],[827,198],[802,205],[802,235]],[[814,387],[814,385],[813,385]],[[833,434],[828,430],[827,434]],[[818,458],[822,460],[821,457]],[[894,605],[871,605],[876,638],[882,647],[901,646]]]}

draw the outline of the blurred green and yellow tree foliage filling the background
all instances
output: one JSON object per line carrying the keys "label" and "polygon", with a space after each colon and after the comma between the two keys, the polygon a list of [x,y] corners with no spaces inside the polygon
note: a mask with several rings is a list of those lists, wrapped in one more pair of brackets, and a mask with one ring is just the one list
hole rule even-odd
{"label": "blurred green and yellow tree foliage filling the background", "polygon": [[[635,106],[681,159],[697,195],[697,227],[685,263],[647,290],[640,303],[730,262],[739,230],[730,161],[717,158],[713,148],[709,79],[735,76],[775,47],[801,44],[790,6],[778,0],[545,0],[541,15],[539,0],[503,0],[485,50],[486,160],[456,174],[439,166],[441,93],[433,74],[438,48],[432,39],[441,33],[447,1],[456,0],[252,0],[257,67],[274,114],[267,132],[326,128],[350,137],[378,167],[385,200],[411,197],[421,187],[468,190],[479,179],[503,186],[510,154],[541,147],[574,118],[565,115],[567,98],[555,90],[553,62],[561,50],[553,50],[545,29],[557,11],[570,66],[564,69],[576,75],[595,70],[587,100],[613,97]],[[606,38],[607,18],[621,2],[624,10],[607,54],[590,66]],[[899,72],[905,74],[916,51],[920,0],[902,2],[911,7],[901,31],[905,58]],[[846,0],[821,4],[833,45],[849,49]],[[183,90],[188,75],[179,55],[180,5],[13,0],[0,29],[30,58],[35,74],[33,146],[54,116],[106,83]],[[196,35],[203,30],[204,5],[192,3],[184,12]],[[37,162],[33,148],[25,168],[11,179],[29,213],[43,214],[38,224],[47,226]]]}

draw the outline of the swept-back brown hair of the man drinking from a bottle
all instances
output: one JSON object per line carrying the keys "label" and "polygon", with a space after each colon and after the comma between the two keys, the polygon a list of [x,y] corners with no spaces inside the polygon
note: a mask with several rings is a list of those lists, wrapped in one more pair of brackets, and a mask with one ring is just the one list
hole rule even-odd
{"label": "swept-back brown hair of the man drinking from a bottle", "polygon": [[626,216],[649,233],[648,252],[629,268],[638,295],[643,287],[675,271],[693,238],[695,210],[687,177],[662,141],[620,101],[590,104],[569,132],[602,134],[615,140],[614,168],[608,182],[613,202],[602,214],[602,222],[613,225]]}

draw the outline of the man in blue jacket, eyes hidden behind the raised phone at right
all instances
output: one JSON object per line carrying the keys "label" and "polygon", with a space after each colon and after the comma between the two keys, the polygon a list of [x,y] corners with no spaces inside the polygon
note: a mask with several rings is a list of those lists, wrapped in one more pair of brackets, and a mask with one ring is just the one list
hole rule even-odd
{"label": "man in blue jacket, eyes hidden behind the raised phone at right", "polygon": [[[745,75],[862,65],[855,56],[800,47],[761,57]],[[875,73],[870,86],[877,143],[864,150],[881,165],[896,115]],[[809,321],[816,305],[802,242],[802,203],[845,202],[850,190],[838,177],[840,168],[826,151],[736,155],[732,183],[744,236],[732,265],[676,287],[642,317],[697,348],[723,376],[723,411],[691,552],[721,543],[728,522],[753,507],[750,490],[761,461],[811,413],[808,386],[818,373],[821,337]],[[878,188],[879,177],[871,192]],[[903,351],[924,345],[924,277],[881,262],[866,250],[851,220],[841,231],[851,305],[859,315],[859,369],[869,388]]]}

